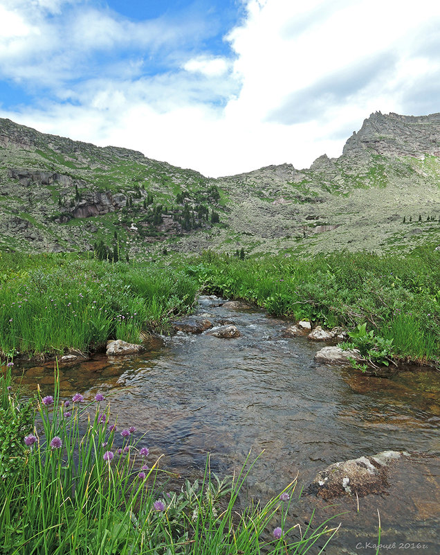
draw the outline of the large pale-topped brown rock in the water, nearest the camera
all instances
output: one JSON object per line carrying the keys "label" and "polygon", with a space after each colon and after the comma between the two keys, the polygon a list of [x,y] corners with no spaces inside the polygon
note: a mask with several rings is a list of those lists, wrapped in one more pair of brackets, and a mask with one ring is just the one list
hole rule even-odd
{"label": "large pale-topped brown rock in the water, nearest the camera", "polygon": [[383,493],[388,486],[390,467],[403,456],[410,457],[410,453],[383,451],[373,457],[359,457],[331,464],[318,472],[306,491],[325,501],[356,493],[359,497]]}

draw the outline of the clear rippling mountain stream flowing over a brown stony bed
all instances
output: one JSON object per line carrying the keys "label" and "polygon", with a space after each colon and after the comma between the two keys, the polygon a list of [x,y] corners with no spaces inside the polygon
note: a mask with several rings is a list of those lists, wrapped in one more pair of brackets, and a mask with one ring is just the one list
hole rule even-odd
{"label": "clear rippling mountain stream flowing over a brown stony bed", "polygon": [[[378,512],[385,553],[438,555],[440,542],[440,376],[403,371],[391,379],[351,369],[318,366],[322,344],[284,339],[286,322],[262,311],[233,310],[202,297],[199,315],[228,318],[235,339],[178,333],[152,338],[149,349],[126,358],[92,360],[60,368],[62,396],[80,391],[92,399],[111,394],[118,426],[147,432],[143,444],[165,454],[163,466],[183,477],[211,468],[225,475],[241,467],[252,450],[264,454],[250,473],[242,501],[264,501],[298,475],[300,492],[318,470],[336,461],[407,450],[389,472],[383,495],[345,497],[333,503],[302,495],[292,504],[304,527],[345,513],[327,554],[376,553]],[[26,367],[24,383],[51,392],[53,363]],[[316,552],[318,552],[317,549]],[[309,552],[313,553],[313,549]]]}

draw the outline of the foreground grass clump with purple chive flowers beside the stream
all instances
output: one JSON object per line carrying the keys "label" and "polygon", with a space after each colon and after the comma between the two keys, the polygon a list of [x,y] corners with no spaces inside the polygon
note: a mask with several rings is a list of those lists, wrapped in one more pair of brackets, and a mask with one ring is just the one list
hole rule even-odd
{"label": "foreground grass clump with purple chive flowers beside the stream", "polygon": [[170,491],[145,437],[118,430],[100,394],[66,402],[55,385],[25,403],[3,365],[0,416],[0,554],[318,554],[336,531],[287,524],[295,483],[240,509],[253,464],[230,479],[207,464],[201,480]]}

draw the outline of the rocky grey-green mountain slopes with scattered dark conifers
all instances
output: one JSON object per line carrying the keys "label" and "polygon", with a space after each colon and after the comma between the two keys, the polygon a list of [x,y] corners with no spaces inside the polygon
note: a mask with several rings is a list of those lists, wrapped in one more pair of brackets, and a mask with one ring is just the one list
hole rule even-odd
{"label": "rocky grey-green mountain slopes with scattered dark conifers", "polygon": [[408,249],[437,240],[439,184],[440,114],[376,112],[339,158],[219,179],[0,119],[0,250]]}

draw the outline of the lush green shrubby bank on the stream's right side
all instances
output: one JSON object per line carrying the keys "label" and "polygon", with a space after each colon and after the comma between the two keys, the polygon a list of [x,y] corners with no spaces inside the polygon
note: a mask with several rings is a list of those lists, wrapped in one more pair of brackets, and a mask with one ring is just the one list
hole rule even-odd
{"label": "lush green shrubby bank on the stream's right side", "polygon": [[204,292],[328,328],[366,324],[378,344],[391,344],[398,358],[439,359],[440,252],[432,248],[405,258],[340,253],[305,260],[242,261],[208,252],[187,272]]}

